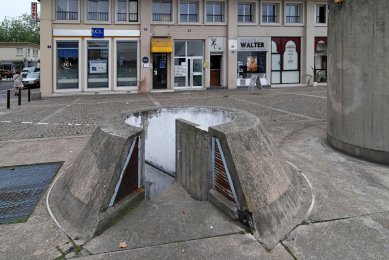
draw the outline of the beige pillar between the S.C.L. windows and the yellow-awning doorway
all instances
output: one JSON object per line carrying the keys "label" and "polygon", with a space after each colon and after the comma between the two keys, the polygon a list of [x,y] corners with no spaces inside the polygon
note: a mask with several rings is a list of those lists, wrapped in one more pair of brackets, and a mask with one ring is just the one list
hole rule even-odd
{"label": "beige pillar between the S.C.L. windows and the yellow-awning doorway", "polygon": [[140,78],[143,81],[144,92],[149,92],[152,89],[152,57],[150,52],[150,39],[151,39],[151,19],[152,19],[152,2],[151,0],[139,1],[139,14],[140,14],[140,59],[143,57],[149,57],[150,68],[144,68],[141,61]]}

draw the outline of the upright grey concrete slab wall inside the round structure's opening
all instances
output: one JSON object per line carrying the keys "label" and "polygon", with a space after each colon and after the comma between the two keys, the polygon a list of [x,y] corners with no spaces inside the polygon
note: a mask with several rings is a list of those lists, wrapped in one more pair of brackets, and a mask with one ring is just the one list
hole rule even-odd
{"label": "upright grey concrete slab wall inside the round structure's opening", "polygon": [[176,120],[177,182],[196,200],[207,200],[212,188],[208,133],[186,120]]}

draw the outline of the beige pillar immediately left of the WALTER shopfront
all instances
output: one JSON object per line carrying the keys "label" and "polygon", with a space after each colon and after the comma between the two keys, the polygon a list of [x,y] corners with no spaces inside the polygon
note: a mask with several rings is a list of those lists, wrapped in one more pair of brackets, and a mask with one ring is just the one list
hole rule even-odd
{"label": "beige pillar immediately left of the WALTER shopfront", "polygon": [[238,1],[228,1],[228,29],[227,29],[227,86],[236,89],[238,51],[229,50],[229,40],[237,40],[238,36]]}

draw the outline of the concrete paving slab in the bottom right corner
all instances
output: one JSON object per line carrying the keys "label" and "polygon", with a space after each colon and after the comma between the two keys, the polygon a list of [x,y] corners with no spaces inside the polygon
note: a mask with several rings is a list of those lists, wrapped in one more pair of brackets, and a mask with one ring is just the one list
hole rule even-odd
{"label": "concrete paving slab in the bottom right corner", "polygon": [[389,259],[389,213],[299,226],[284,242],[297,259]]}

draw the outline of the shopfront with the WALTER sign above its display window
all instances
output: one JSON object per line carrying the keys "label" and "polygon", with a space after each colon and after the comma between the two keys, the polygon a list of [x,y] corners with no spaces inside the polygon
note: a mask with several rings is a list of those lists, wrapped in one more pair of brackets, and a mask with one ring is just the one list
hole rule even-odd
{"label": "shopfront with the WALTER sign above its display window", "polygon": [[269,37],[238,38],[237,86],[248,86],[253,74],[268,78],[267,52],[270,49]]}

